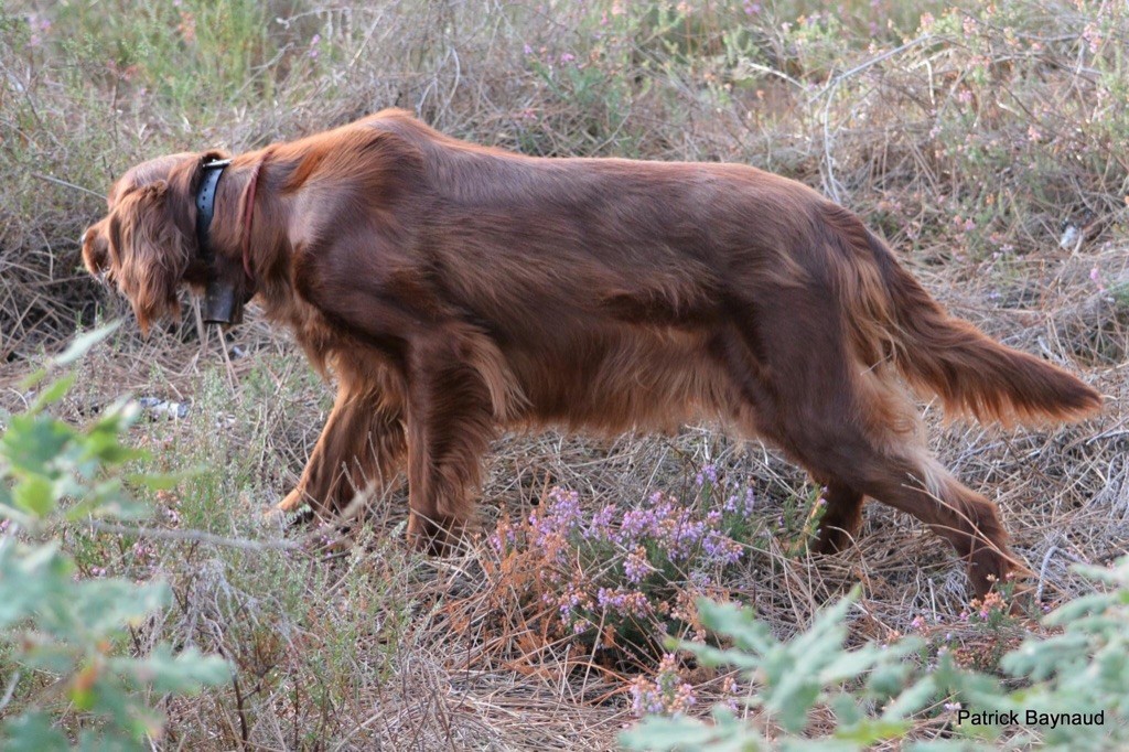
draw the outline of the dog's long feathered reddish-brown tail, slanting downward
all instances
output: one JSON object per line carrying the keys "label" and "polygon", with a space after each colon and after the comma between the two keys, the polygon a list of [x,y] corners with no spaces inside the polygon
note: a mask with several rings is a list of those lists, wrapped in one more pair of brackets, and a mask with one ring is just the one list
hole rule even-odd
{"label": "dog's long feathered reddish-brown tail, slanting downward", "polygon": [[868,364],[892,358],[914,388],[938,395],[946,412],[980,421],[1069,421],[1101,408],[1101,395],[1078,378],[951,316],[861,220],[834,210],[832,224],[854,246],[855,271],[873,264],[842,290],[851,338]]}

